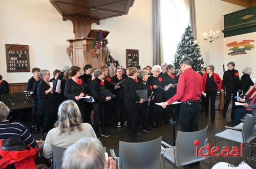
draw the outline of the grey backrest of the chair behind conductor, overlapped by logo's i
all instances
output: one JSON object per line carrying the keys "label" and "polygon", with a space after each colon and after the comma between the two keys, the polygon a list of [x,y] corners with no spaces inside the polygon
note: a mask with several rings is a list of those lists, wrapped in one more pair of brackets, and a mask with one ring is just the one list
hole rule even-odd
{"label": "grey backrest of the chair behind conductor, overlapped by logo's i", "polygon": [[[176,139],[176,163],[177,166],[184,165],[188,161],[199,161],[202,156],[199,150],[203,146],[207,146],[206,134],[208,126],[200,131],[193,132],[182,132],[178,131]],[[198,140],[200,144],[198,147],[198,156],[196,156],[196,146],[194,144],[195,140]],[[204,149],[205,150],[205,149]],[[205,151],[203,151],[206,154]]]}

